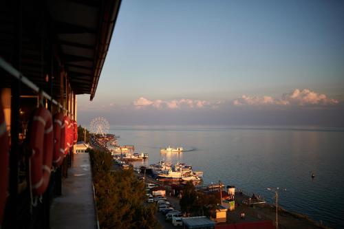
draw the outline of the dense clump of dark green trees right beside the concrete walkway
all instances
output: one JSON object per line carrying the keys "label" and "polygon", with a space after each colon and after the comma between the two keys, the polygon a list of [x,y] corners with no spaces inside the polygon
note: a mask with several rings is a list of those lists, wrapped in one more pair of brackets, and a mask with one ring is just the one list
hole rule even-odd
{"label": "dense clump of dark green trees right beside the concrete walkway", "polygon": [[133,170],[113,171],[109,153],[88,151],[100,228],[157,228],[156,207],[153,204],[144,206],[147,198],[144,183],[137,179]]}

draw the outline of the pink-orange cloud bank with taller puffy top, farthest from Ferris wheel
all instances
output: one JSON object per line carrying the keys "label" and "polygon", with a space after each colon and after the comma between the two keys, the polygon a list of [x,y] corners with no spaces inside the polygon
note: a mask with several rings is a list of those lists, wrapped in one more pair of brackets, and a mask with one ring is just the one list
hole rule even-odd
{"label": "pink-orange cloud bank with taller puffy top, farthest from Ferris wheel", "polygon": [[338,100],[327,98],[325,94],[316,94],[310,89],[294,89],[289,94],[283,94],[281,98],[271,96],[241,96],[233,100],[233,105],[335,105]]}

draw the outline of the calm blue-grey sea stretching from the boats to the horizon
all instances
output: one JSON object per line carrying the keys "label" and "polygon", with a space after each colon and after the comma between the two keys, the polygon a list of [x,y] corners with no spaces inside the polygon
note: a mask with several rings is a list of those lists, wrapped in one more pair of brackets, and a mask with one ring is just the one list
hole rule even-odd
{"label": "calm blue-grey sea stretching from the boats to the horizon", "polygon": [[[326,226],[344,228],[344,130],[215,127],[111,127],[119,143],[159,160],[191,164],[204,171],[204,184],[221,180],[283,208],[309,215]],[[160,148],[182,146],[183,153]],[[316,177],[311,178],[314,171]]]}

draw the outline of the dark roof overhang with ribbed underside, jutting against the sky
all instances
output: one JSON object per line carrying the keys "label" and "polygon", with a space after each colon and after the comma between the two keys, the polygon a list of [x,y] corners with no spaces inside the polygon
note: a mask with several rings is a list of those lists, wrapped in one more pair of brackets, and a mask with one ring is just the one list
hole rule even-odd
{"label": "dark roof overhang with ribbed underside, jutting against the sky", "polygon": [[96,94],[120,9],[120,0],[49,0],[61,65],[74,94]]}

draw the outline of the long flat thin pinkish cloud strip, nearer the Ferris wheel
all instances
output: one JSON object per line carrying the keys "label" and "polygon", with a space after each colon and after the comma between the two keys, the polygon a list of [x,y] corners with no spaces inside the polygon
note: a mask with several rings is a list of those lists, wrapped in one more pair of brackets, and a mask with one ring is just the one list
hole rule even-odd
{"label": "long flat thin pinkish cloud strip, nearer the Ferris wheel", "polygon": [[154,107],[156,109],[202,109],[202,108],[217,108],[220,101],[209,102],[206,100],[191,100],[189,98],[174,99],[174,100],[149,100],[140,97],[133,101],[133,106],[137,109],[144,107]]}

